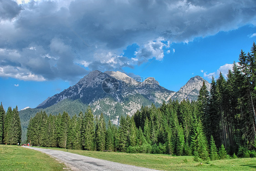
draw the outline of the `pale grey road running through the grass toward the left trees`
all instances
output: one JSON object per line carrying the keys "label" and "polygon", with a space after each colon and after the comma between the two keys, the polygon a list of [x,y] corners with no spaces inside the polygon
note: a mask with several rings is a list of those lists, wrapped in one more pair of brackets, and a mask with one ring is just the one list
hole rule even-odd
{"label": "pale grey road running through the grass toward the left trees", "polygon": [[44,152],[56,158],[58,161],[64,162],[72,171],[156,171],[144,167],[125,165],[113,161],[105,161],[64,151],[42,149],[30,146],[25,147]]}

